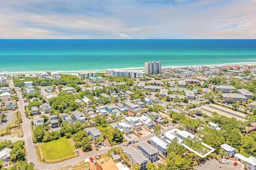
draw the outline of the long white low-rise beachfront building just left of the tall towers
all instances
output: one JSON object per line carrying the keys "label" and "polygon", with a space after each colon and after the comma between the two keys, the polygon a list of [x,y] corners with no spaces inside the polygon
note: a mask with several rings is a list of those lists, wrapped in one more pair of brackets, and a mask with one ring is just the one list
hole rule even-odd
{"label": "long white low-rise beachfront building just left of the tall towers", "polygon": [[143,71],[122,69],[107,69],[107,75],[112,77],[129,77],[132,79],[145,77]]}

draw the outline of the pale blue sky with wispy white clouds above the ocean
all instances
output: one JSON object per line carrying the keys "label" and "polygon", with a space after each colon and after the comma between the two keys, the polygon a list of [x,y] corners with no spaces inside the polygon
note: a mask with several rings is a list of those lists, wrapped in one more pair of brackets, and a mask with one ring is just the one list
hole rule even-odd
{"label": "pale blue sky with wispy white clouds above the ocean", "polygon": [[0,39],[256,39],[256,0],[0,0]]}

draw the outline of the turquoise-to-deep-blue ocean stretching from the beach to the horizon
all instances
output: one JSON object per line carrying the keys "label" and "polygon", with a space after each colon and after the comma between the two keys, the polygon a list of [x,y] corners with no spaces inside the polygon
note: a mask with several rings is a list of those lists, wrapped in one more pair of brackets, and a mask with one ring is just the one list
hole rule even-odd
{"label": "turquoise-to-deep-blue ocean stretching from the beach to the horizon", "polygon": [[0,71],[106,72],[163,67],[256,64],[256,40],[0,40]]}

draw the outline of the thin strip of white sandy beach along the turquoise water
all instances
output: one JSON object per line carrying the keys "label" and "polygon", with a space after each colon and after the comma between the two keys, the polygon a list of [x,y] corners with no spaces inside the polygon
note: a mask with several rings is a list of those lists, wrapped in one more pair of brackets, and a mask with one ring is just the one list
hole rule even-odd
{"label": "thin strip of white sandy beach along the turquoise water", "polygon": [[[168,68],[171,68],[171,69],[175,69],[175,68],[182,68],[182,67],[192,67],[192,66],[202,66],[204,64],[201,64],[201,65],[182,65],[182,66],[163,66],[162,69],[168,69]],[[205,64],[207,65],[207,64]],[[224,65],[240,65],[240,66],[243,66],[243,65],[247,65],[247,66],[251,66],[251,65],[256,65],[256,62],[254,63],[247,63],[247,62],[244,62],[244,63],[224,63],[224,64],[216,64],[216,65],[207,65],[210,69],[214,69],[214,66],[224,66]],[[108,68],[108,69],[113,69],[113,68]],[[128,68],[114,68],[114,69],[121,69],[121,70],[138,70],[138,71],[144,71],[144,67],[128,67]],[[106,69],[105,69],[106,70]],[[15,71],[15,72],[9,72],[8,70],[1,70],[2,71],[7,71],[8,75],[19,75],[19,74],[25,74],[25,75],[28,75],[28,74],[38,74],[38,73],[42,73],[44,71],[48,71],[48,70],[44,70],[44,71]],[[85,72],[85,71],[96,71],[96,69],[94,70],[78,70],[78,71],[58,71],[58,70],[50,70],[50,71],[57,71],[58,73],[60,74],[70,74],[70,75],[77,75],[78,72]],[[106,71],[96,71],[98,73],[106,73]]]}

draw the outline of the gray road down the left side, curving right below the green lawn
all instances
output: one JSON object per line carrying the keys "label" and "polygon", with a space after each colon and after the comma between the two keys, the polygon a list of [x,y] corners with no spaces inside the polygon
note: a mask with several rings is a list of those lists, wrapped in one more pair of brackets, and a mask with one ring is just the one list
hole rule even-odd
{"label": "gray road down the left side, curving right below the green lawn", "polygon": [[[94,151],[94,152],[89,152],[86,155],[83,156],[78,156],[76,158],[70,159],[70,160],[66,160],[64,162],[59,162],[56,164],[42,164],[40,162],[38,162],[37,156],[36,156],[36,150],[34,148],[34,143],[32,142],[32,134],[30,132],[30,119],[27,119],[24,113],[24,105],[23,105],[23,100],[22,100],[22,95],[21,92],[17,92],[18,93],[18,97],[19,97],[19,111],[22,115],[22,119],[23,119],[23,132],[24,132],[24,139],[25,139],[25,144],[26,144],[26,149],[27,149],[27,153],[28,153],[28,162],[33,162],[34,163],[34,168],[35,169],[40,169],[40,170],[50,170],[50,169],[58,169],[58,168],[62,168],[64,166],[69,166],[71,164],[74,164],[76,162],[80,162],[85,160],[86,158],[98,155],[98,154],[103,154],[108,152],[108,150],[110,150],[110,147],[106,147],[106,148],[102,148],[98,151]],[[164,130],[162,130],[162,133],[174,129],[175,127],[172,126],[170,128],[166,128]],[[154,134],[149,134],[147,136],[143,136],[141,138],[139,138],[139,142],[146,140],[148,138],[152,138],[154,136]],[[114,147],[122,147],[125,148],[126,146],[123,146],[123,144],[118,144]]]}

